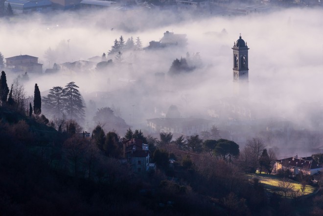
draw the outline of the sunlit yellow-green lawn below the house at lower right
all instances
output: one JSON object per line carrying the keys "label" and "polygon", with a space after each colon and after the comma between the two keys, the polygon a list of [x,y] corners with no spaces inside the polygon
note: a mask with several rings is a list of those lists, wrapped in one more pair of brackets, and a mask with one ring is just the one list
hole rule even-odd
{"label": "sunlit yellow-green lawn below the house at lower right", "polygon": [[[250,181],[252,181],[253,178],[258,178],[259,182],[264,184],[264,187],[269,192],[275,192],[279,191],[278,189],[278,182],[280,180],[280,177],[277,175],[269,175],[269,174],[247,174],[247,177]],[[300,182],[291,180],[294,186],[294,191],[300,190],[301,184]],[[304,194],[301,195],[307,195],[312,192],[315,192],[316,188],[306,185]],[[301,190],[300,190],[301,191]]]}

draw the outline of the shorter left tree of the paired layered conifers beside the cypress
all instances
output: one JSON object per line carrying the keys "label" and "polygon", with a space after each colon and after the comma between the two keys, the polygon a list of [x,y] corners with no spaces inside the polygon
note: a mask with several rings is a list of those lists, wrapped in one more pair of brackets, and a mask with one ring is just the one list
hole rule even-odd
{"label": "shorter left tree of the paired layered conifers beside the cypress", "polygon": [[46,109],[57,117],[61,117],[64,111],[63,88],[55,86],[49,90],[47,97],[43,97]]}

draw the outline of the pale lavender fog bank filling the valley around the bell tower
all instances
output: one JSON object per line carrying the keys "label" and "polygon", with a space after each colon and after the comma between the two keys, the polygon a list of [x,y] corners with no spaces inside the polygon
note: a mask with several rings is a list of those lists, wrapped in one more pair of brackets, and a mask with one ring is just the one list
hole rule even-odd
{"label": "pale lavender fog bank filling the valley around the bell tower", "polygon": [[[122,117],[129,122],[131,105],[135,105],[138,122],[144,122],[145,118],[154,118],[154,107],[176,104],[183,115],[188,113],[187,109],[204,114],[206,107],[214,105],[218,98],[232,96],[231,48],[241,33],[250,48],[250,98],[277,109],[282,117],[291,118],[301,116],[295,112],[299,104],[321,103],[322,12],[322,9],[286,9],[268,14],[204,19],[167,11],[146,13],[138,10],[87,14],[57,12],[59,14],[46,18],[37,14],[14,18],[9,23],[0,20],[0,51],[5,58],[20,53],[39,57],[45,70],[54,63],[45,58],[48,48],[57,53],[53,57],[56,63],[64,63],[101,56],[111,49],[120,35],[125,40],[139,36],[146,47],[149,41],[159,41],[166,30],[186,34],[188,45],[184,49],[124,53],[125,62],[132,63],[131,67],[106,72],[92,69],[50,76],[30,75],[30,81],[24,84],[28,95],[32,95],[35,83],[41,91],[46,91],[74,81],[86,103],[92,92],[109,91],[111,96],[107,100],[97,99],[97,108],[112,104],[120,106]],[[226,34],[221,34],[223,28]],[[203,68],[182,77],[167,76],[172,61],[185,57],[187,51],[200,53]],[[156,80],[155,72],[165,72],[165,81]],[[8,84],[16,76],[7,74]]]}

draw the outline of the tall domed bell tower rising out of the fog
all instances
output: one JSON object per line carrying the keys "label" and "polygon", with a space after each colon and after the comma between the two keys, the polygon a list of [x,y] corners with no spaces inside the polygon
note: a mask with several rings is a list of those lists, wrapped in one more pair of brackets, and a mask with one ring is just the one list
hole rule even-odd
{"label": "tall domed bell tower rising out of the fog", "polygon": [[239,96],[248,96],[248,46],[241,38],[233,44],[233,82],[235,94]]}

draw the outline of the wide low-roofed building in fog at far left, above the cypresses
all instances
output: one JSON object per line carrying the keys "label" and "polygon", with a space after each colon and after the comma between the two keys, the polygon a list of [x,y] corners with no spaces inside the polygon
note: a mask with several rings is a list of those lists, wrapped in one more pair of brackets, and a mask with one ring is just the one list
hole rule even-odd
{"label": "wide low-roofed building in fog at far left, above the cypresses", "polygon": [[6,67],[27,73],[42,73],[43,65],[38,63],[38,57],[30,55],[17,55],[5,58]]}

